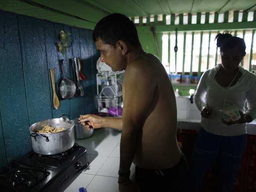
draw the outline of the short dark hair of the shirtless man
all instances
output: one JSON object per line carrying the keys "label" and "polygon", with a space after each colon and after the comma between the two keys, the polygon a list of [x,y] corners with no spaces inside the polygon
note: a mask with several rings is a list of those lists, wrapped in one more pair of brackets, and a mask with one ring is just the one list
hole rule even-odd
{"label": "short dark hair of the shirtless man", "polygon": [[132,20],[118,13],[108,15],[97,23],[93,30],[93,41],[96,42],[99,39],[104,44],[114,47],[120,40],[133,46],[140,45],[138,32]]}

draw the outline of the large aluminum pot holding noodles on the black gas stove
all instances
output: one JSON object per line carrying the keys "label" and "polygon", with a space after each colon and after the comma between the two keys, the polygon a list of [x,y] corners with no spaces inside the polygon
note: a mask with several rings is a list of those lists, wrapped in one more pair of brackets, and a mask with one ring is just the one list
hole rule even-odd
{"label": "large aluminum pot holding noodles on the black gas stove", "polygon": [[[38,133],[45,125],[63,127],[64,131],[56,133]],[[30,126],[32,148],[41,155],[54,155],[69,150],[74,146],[74,122],[65,123],[60,118],[40,121]]]}

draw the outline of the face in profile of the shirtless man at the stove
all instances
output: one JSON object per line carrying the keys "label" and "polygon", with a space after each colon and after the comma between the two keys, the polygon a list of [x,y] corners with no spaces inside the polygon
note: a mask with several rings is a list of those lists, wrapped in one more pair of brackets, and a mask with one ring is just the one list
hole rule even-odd
{"label": "face in profile of the shirtless man at the stove", "polygon": [[111,67],[112,71],[122,71],[124,69],[125,58],[118,48],[109,44],[104,44],[101,39],[95,42],[101,54],[101,62]]}

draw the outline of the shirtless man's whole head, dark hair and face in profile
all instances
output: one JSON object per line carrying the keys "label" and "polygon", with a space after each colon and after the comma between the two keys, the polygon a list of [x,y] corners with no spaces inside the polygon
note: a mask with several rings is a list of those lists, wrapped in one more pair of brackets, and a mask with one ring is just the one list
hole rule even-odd
{"label": "shirtless man's whole head, dark hair and face in profile", "polygon": [[116,13],[97,23],[93,30],[93,41],[101,53],[101,62],[105,62],[113,71],[125,69],[130,47],[141,46],[131,19]]}

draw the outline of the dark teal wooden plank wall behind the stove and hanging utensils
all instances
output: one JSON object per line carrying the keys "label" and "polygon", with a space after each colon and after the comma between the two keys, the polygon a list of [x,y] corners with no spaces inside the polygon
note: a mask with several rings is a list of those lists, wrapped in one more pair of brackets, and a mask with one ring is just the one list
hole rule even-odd
{"label": "dark teal wooden plank wall behind the stove and hanging utensils", "polygon": [[[65,56],[56,47],[60,30],[74,37]],[[95,112],[99,54],[91,37],[92,30],[0,11],[0,168],[32,149],[30,125],[61,114],[75,118]],[[85,94],[60,101],[55,110],[49,68],[55,68],[57,82],[61,78],[59,60],[64,59],[65,75],[70,78],[72,57],[82,60]]]}

